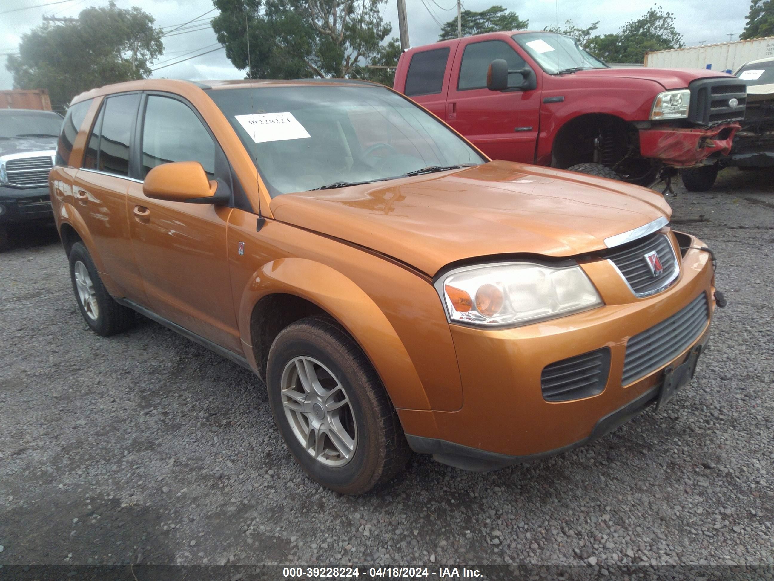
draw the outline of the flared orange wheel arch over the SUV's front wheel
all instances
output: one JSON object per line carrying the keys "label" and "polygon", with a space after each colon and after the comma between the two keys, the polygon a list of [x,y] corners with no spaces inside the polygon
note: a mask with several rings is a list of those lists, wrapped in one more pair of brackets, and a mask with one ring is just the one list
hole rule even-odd
{"label": "flared orange wheel arch over the SUV's front wheel", "polygon": [[[348,332],[372,363],[395,407],[430,409],[406,346],[382,309],[353,280],[314,260],[284,258],[266,263],[241,294],[240,333],[259,376],[265,378],[269,349],[279,331],[314,314],[330,316]],[[266,324],[263,329],[261,322]]]}

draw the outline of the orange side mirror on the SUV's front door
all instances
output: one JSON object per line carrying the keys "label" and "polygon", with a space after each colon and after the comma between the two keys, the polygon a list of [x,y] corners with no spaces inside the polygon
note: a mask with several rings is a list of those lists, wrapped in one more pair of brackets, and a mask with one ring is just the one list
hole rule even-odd
{"label": "orange side mirror on the SUV's front door", "polygon": [[207,179],[197,161],[176,161],[154,167],[146,175],[142,193],[147,198],[194,204],[227,204],[230,196],[218,194],[217,181]]}

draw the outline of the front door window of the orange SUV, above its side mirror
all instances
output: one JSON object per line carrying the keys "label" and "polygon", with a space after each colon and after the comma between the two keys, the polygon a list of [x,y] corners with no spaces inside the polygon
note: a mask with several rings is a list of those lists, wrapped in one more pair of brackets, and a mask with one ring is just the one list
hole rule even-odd
{"label": "front door window of the orange SUV, above its side mirror", "polygon": [[142,177],[162,163],[175,161],[198,161],[214,177],[214,141],[183,102],[151,95],[142,125]]}

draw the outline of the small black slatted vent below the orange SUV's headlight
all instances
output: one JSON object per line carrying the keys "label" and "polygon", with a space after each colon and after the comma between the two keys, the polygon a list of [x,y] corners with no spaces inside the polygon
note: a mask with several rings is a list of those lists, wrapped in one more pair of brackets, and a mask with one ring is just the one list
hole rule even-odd
{"label": "small black slatted vent below the orange SUV's headlight", "polygon": [[551,363],[540,375],[543,399],[569,401],[601,394],[609,373],[610,349],[607,348]]}

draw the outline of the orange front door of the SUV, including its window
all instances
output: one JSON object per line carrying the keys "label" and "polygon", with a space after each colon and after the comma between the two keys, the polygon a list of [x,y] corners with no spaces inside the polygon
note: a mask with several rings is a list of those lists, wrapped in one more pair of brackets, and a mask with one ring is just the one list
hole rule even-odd
{"label": "orange front door of the SUV, including its window", "polygon": [[[218,187],[228,187],[220,146],[187,102],[148,95],[143,108],[141,179],[162,163],[197,161]],[[140,181],[127,194],[132,248],[152,311],[241,353],[226,249],[232,208],[146,198]]]}

